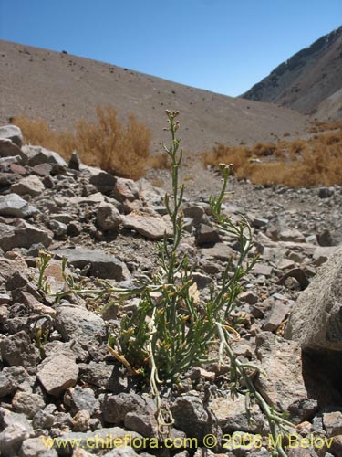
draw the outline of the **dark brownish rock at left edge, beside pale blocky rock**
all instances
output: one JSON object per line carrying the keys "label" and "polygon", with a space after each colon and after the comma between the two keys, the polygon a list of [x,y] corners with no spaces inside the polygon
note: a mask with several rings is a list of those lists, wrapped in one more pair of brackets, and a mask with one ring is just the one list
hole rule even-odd
{"label": "dark brownish rock at left edge, beside pale blocky rock", "polygon": [[1,356],[9,366],[21,366],[31,373],[39,360],[36,347],[24,330],[7,336],[0,342]]}

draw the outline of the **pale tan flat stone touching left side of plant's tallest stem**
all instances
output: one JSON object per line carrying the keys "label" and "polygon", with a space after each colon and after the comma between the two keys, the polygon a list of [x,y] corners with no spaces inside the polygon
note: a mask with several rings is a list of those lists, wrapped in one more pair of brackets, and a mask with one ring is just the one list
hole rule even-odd
{"label": "pale tan flat stone touching left side of plant's tallest stem", "polygon": [[148,239],[162,239],[170,226],[157,213],[132,211],[123,217],[123,228],[131,228]]}

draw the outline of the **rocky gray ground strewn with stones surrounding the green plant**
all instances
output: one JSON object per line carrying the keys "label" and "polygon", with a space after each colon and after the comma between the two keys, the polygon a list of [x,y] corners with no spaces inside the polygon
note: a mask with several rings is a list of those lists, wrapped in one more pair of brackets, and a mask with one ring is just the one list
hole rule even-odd
{"label": "rocky gray ground strewn with stones surrounding the green plant", "polygon": [[[137,299],[118,305],[109,297],[96,302],[66,294],[57,301],[37,287],[42,249],[52,255],[46,271],[52,293],[66,290],[63,256],[67,274],[87,288],[99,287],[100,280],[132,287],[156,272],[156,240],[170,230],[163,204],[168,177],[153,172],[134,183],[79,164],[77,154],[67,164],[56,153],[23,146],[15,127],[0,129],[4,457],[270,455],[262,414],[256,410],[255,423],[248,423],[243,393],[230,399],[229,379],[215,364],[184,374],[182,388],[168,398],[175,419],[171,438],[178,441],[172,449],[152,449],[146,439],[157,436],[155,404],[107,349],[110,329]],[[238,245],[209,218],[208,198],[219,190],[219,176],[197,165],[185,169],[183,179],[181,250],[205,300]],[[234,178],[224,202],[233,220],[248,218],[260,255],[238,299],[240,339],[233,349],[264,368],[267,377],[255,378],[264,399],[300,424],[289,456],[342,455],[341,210],[339,186],[266,188]],[[217,439],[212,449],[208,434]],[[135,444],[110,450],[114,439],[125,436]],[[264,441],[257,446],[259,436]],[[177,446],[185,437],[197,445]],[[238,445],[242,437],[254,447]],[[107,446],[98,444],[106,439]],[[316,449],[310,440],[318,440]]]}

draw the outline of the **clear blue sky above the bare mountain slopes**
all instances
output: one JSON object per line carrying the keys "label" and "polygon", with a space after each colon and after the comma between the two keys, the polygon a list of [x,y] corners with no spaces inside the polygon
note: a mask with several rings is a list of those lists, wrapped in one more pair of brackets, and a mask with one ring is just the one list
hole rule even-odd
{"label": "clear blue sky above the bare mountain slopes", "polygon": [[342,24],[342,0],[0,0],[0,38],[227,95]]}

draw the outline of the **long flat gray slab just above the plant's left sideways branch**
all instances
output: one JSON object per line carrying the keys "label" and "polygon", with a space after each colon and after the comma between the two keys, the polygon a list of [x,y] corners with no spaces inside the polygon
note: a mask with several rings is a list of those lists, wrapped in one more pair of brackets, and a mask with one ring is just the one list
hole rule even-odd
{"label": "long flat gray slab just above the plant's left sideways branch", "polygon": [[122,281],[128,275],[126,265],[115,257],[105,254],[103,250],[88,250],[77,246],[76,249],[55,250],[54,252],[58,256],[67,257],[68,262],[74,267],[82,269],[90,265],[88,271],[90,276]]}

